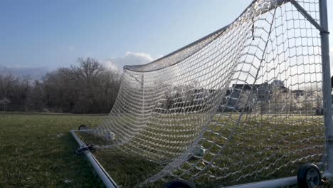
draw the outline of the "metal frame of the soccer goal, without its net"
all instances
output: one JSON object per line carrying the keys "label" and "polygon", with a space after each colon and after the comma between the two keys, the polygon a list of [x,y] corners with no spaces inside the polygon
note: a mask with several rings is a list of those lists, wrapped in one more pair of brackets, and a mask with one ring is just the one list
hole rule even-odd
{"label": "metal frame of the soccer goal, without its net", "polygon": [[[281,1],[281,0],[272,0]],[[321,60],[322,60],[322,80],[323,80],[323,104],[324,104],[324,127],[325,127],[325,146],[326,146],[326,162],[327,169],[322,174],[322,177],[327,179],[333,178],[333,122],[332,122],[332,86],[331,86],[331,73],[330,73],[330,61],[329,61],[329,31],[328,31],[328,20],[327,20],[327,0],[319,0],[319,18],[320,23],[317,23],[305,9],[300,6],[295,0],[283,0],[282,2],[288,2],[293,4],[305,18],[312,23],[312,25],[320,32],[321,39]],[[223,29],[223,28],[222,28]],[[221,29],[220,29],[221,30]],[[220,31],[218,30],[218,31]],[[214,32],[216,33],[216,32]],[[213,33],[212,33],[213,34]],[[212,34],[208,35],[211,36]],[[199,41],[204,40],[208,36],[205,36]],[[185,48],[185,47],[184,47]],[[174,53],[176,53],[175,51]],[[172,53],[170,53],[172,54]],[[169,55],[170,55],[169,54]],[[169,56],[166,55],[166,56]],[[70,133],[75,138],[76,142],[80,147],[85,147],[85,142],[78,137],[77,132],[80,130],[71,130]],[[86,152],[85,157],[92,164],[93,168],[97,172],[102,182],[106,187],[119,187],[116,182],[110,177],[110,175],[103,169],[102,165],[91,152]],[[249,187],[286,187],[293,184],[297,184],[297,177],[286,177],[281,179],[273,179],[263,182],[254,182],[250,184],[240,184],[232,187],[238,188],[249,188]]]}

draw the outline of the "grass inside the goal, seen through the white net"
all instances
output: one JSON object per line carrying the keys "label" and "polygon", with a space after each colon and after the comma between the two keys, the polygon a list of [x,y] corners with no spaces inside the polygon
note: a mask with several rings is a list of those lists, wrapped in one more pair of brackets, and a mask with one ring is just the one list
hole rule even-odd
{"label": "grass inside the goal, seen through the white net", "polygon": [[[187,115],[184,118],[189,117]],[[179,118],[181,117],[173,117],[173,119]],[[246,121],[241,120],[233,139],[223,150],[223,155],[218,155],[213,160],[219,150],[216,144],[225,145],[227,140],[224,138],[228,137],[235,127],[234,123],[228,121],[231,118],[237,119],[238,115],[233,114],[232,117],[222,119],[215,117],[215,121],[223,122],[225,126],[214,126],[213,124],[208,126],[208,130],[211,131],[207,131],[203,135],[205,139],[201,145],[210,149],[209,153],[203,159],[193,158],[185,162],[172,173],[182,179],[191,179],[194,174],[200,173],[201,169],[213,164],[213,167],[200,174],[194,179],[194,182],[196,187],[218,187],[295,176],[301,164],[312,162],[320,164],[319,162],[322,161],[324,153],[322,116],[300,114],[264,115],[249,117]],[[169,123],[178,125],[181,119],[177,122]],[[191,126],[191,123],[187,122],[187,124]],[[181,123],[177,128],[184,129],[184,126],[184,123]],[[172,129],[175,128],[172,127]],[[191,127],[187,129],[191,129]],[[122,151],[117,150],[116,147],[100,150],[95,153],[95,156],[118,184],[123,187],[133,187],[164,168],[158,162],[147,160],[149,157],[156,153],[162,155],[161,150],[177,152],[172,150],[171,146],[175,148],[177,145],[182,146],[177,142],[168,144],[167,139],[168,136],[181,138],[184,136],[182,135],[184,132],[174,131],[174,135],[164,132],[164,135],[160,135],[158,131],[163,130],[152,125],[152,127],[142,130],[142,134],[122,145],[120,147]],[[210,132],[218,132],[218,134]],[[87,142],[102,143],[102,140],[93,135],[83,135],[83,132],[79,135]],[[156,136],[154,137],[154,135]],[[171,137],[169,139],[172,139]],[[145,142],[146,140],[147,142]],[[177,139],[176,141],[185,140]],[[142,143],[144,144],[142,145]],[[168,146],[170,147],[168,148]],[[125,152],[123,152],[124,150]],[[166,156],[172,157],[168,153]],[[172,178],[170,177],[170,179]],[[166,176],[166,179],[169,178]],[[158,187],[160,184],[163,182],[147,184],[147,187]]]}

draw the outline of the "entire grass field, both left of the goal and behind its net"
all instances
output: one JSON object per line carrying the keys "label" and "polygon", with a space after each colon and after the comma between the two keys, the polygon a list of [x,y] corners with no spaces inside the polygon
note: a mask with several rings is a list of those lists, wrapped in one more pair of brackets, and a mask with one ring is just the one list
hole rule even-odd
{"label": "entire grass field, both left of the goal and behind its net", "polygon": [[[295,175],[302,163],[318,162],[324,152],[322,117],[313,118],[267,117],[260,125],[248,121],[238,127],[224,155],[214,161],[217,167],[206,171],[223,178],[199,177],[197,187],[213,187],[210,182],[216,181],[226,185],[287,177]],[[81,124],[96,126],[100,122],[102,116],[98,115],[1,114],[0,187],[103,187],[85,157],[73,153],[78,145],[69,132]],[[219,127],[211,129],[221,132]],[[218,137],[205,136],[222,142]],[[209,147],[208,142],[202,144]],[[122,187],[132,187],[162,169],[140,156],[115,150],[97,151],[95,156]],[[205,160],[211,160],[209,157],[213,156],[206,155]],[[191,167],[206,165],[189,160],[174,174],[189,171],[181,176],[186,179],[197,172]]]}

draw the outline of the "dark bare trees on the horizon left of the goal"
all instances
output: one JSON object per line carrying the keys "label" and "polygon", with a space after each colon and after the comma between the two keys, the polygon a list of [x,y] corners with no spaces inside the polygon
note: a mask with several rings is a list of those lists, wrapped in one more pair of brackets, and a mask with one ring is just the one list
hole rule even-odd
{"label": "dark bare trees on the horizon left of the goal", "polygon": [[0,75],[0,105],[11,111],[109,113],[121,74],[93,58],[77,61],[78,66],[58,68],[41,80]]}

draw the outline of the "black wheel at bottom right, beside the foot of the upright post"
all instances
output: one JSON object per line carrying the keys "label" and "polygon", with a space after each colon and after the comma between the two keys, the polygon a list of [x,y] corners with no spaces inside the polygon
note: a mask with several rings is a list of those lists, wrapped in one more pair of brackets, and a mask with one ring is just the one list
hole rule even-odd
{"label": "black wheel at bottom right, beside the foot of the upright post", "polygon": [[303,164],[297,172],[298,187],[314,188],[319,187],[322,182],[322,175],[319,168],[314,164]]}

